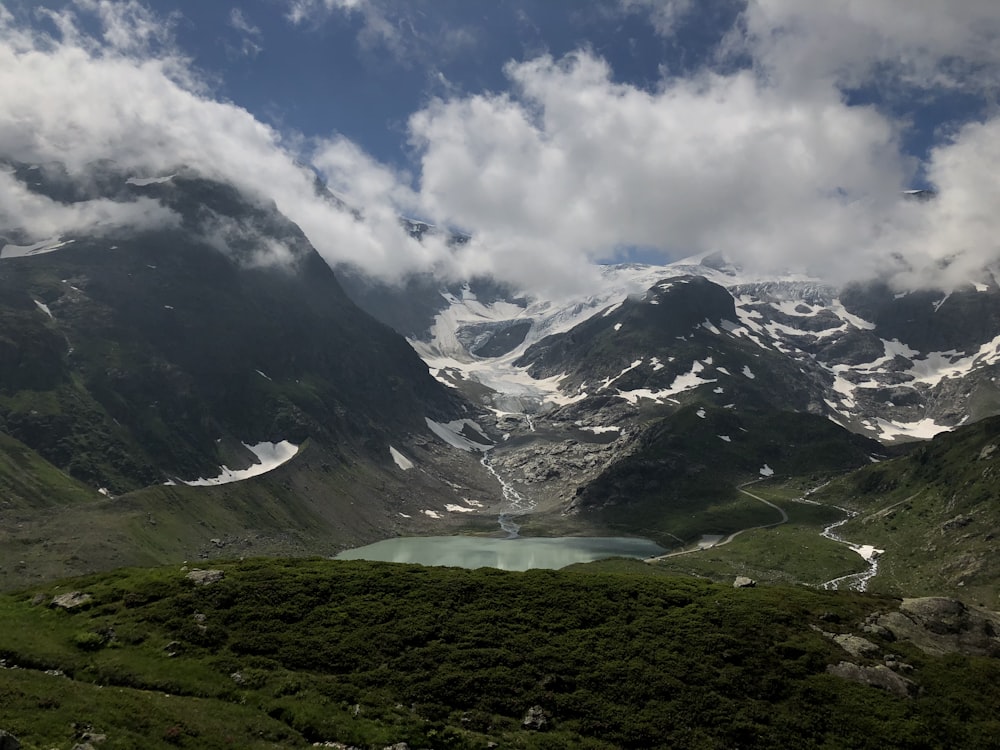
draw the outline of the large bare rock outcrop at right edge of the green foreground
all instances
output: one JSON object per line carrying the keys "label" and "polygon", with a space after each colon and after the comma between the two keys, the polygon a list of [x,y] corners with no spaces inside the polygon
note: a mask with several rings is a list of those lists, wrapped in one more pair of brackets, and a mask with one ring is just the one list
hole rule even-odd
{"label": "large bare rock outcrop at right edge of the green foreground", "polygon": [[969,609],[954,599],[904,599],[898,611],[880,615],[876,624],[927,654],[1000,656],[1000,613]]}

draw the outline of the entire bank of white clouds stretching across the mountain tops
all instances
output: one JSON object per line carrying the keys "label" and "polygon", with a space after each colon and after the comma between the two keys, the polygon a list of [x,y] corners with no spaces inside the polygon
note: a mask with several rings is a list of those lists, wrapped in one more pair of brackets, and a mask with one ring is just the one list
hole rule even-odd
{"label": "entire bank of white clouds stretching across the mountain tops", "polygon": [[[651,23],[665,34],[698,5],[673,2],[664,15],[667,6],[621,4],[657,11]],[[372,0],[289,8],[299,23],[318,10],[387,18]],[[720,38],[717,67],[665,74],[653,89],[617,81],[588,50],[512,61],[509,90],[435,99],[412,114],[409,171],[336,134],[280,133],[217,99],[135,0],[38,13],[55,32],[0,8],[0,155],[78,174],[107,158],[136,174],[191,166],[274,200],[332,264],[389,281],[492,273],[551,292],[586,284],[588,264],[635,248],[910,286],[978,279],[1000,261],[1000,116],[954,123],[921,164],[901,148],[905,116],[851,97],[890,85],[994,96],[991,0],[751,0]],[[80,30],[82,15],[100,21],[99,35]],[[360,217],[317,196],[316,173]],[[918,173],[937,200],[902,197]],[[170,220],[149,205],[109,212],[47,205],[0,176],[0,223],[27,234]],[[418,242],[399,215],[473,240]]]}

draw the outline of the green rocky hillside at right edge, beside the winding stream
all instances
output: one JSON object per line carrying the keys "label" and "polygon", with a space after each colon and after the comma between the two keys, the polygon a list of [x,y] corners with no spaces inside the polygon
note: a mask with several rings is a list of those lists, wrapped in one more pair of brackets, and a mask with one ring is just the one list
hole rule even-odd
{"label": "green rocky hillside at right edge, beside the winding stream", "polygon": [[886,550],[872,589],[997,605],[1000,418],[944,433],[815,495],[854,508],[844,538]]}

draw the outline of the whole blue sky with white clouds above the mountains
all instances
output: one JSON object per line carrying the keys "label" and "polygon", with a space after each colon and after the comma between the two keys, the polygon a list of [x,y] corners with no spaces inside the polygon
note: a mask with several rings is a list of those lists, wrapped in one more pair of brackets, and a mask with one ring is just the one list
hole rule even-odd
{"label": "whole blue sky with white clouds above the mountains", "polygon": [[[390,282],[554,294],[597,262],[708,252],[833,283],[981,281],[1000,262],[998,82],[996,0],[0,5],[0,157],[192,167]],[[905,197],[922,188],[937,198]],[[418,242],[401,215],[472,240]],[[174,221],[0,172],[0,234]]]}

